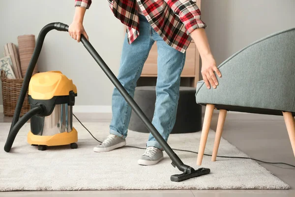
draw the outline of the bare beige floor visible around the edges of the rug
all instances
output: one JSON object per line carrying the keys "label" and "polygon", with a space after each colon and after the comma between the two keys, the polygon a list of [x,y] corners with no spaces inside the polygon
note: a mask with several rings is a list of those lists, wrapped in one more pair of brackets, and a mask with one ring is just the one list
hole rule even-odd
{"label": "bare beige floor visible around the edges of the rug", "polygon": [[[81,122],[108,122],[110,114],[76,114]],[[216,129],[214,114],[211,129]],[[0,115],[0,122],[11,118]],[[76,121],[76,120],[75,120]],[[295,165],[295,157],[283,117],[228,113],[223,137],[252,158]],[[286,165],[261,164],[291,186],[290,190],[157,190],[157,191],[69,191],[69,192],[4,192],[7,197],[295,197],[295,168]]]}

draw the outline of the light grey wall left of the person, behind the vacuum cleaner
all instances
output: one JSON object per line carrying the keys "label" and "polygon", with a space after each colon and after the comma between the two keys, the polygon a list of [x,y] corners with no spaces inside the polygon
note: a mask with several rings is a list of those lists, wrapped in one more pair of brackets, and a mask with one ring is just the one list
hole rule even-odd
{"label": "light grey wall left of the person, behind the vacuum cleaner", "polygon": [[[74,3],[75,0],[1,1],[0,54],[5,43],[17,45],[18,35],[34,34],[37,39],[39,31],[48,23],[69,25],[75,12]],[[90,43],[117,75],[124,27],[114,17],[107,0],[92,2],[84,26]],[[47,34],[37,65],[39,71],[60,70],[73,79],[78,89],[75,105],[111,105],[113,84],[83,44],[68,33],[51,31]]]}

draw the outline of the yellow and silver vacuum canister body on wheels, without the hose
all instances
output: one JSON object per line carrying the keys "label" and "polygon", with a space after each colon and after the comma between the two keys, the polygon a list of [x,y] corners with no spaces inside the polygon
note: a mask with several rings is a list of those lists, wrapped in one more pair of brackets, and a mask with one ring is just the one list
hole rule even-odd
{"label": "yellow and silver vacuum canister body on wheels, without the hose", "polygon": [[31,109],[42,106],[43,113],[30,118],[28,143],[38,145],[39,150],[67,144],[77,148],[78,133],[73,127],[76,96],[73,81],[60,71],[34,74],[29,82],[29,104]]}

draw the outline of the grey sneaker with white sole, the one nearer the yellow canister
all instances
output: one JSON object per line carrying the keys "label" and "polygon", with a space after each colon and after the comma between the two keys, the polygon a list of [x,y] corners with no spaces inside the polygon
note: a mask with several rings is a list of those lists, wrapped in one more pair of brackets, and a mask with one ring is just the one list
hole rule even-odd
{"label": "grey sneaker with white sole, the one nearer the yellow canister", "polygon": [[126,145],[126,140],[110,134],[101,144],[93,148],[94,152],[108,152]]}

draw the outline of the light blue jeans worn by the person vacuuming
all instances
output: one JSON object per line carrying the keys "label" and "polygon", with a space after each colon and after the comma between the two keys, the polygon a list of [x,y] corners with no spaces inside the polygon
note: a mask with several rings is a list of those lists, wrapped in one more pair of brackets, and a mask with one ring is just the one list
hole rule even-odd
{"label": "light blue jeans worn by the person vacuuming", "polygon": [[[182,72],[185,53],[169,46],[149,25],[143,15],[140,15],[140,35],[130,45],[125,37],[118,72],[118,80],[133,98],[137,80],[148,58],[151,46],[157,43],[157,82],[156,102],[152,119],[153,126],[167,141],[171,133],[177,112],[179,98],[180,74]],[[112,97],[112,121],[110,133],[119,137],[127,137],[130,122],[131,107],[115,88]],[[148,146],[162,149],[161,145],[149,133]]]}

